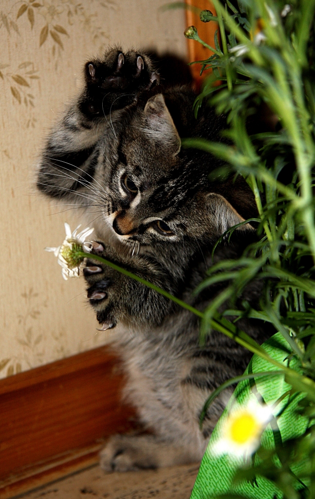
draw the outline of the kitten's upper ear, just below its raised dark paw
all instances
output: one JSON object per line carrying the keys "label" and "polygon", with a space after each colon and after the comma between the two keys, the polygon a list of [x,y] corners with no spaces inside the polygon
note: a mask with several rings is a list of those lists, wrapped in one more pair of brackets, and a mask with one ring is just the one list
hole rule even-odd
{"label": "kitten's upper ear, just below its raised dark paw", "polygon": [[180,138],[162,94],[150,97],[144,112],[146,135],[175,156],[180,150]]}

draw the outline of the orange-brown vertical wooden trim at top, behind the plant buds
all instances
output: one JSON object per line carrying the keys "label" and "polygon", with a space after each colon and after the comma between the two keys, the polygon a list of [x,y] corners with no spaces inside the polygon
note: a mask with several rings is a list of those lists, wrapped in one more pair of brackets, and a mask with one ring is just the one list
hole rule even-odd
{"label": "orange-brown vertical wooden trim at top, behind the plant buds", "polygon": [[[209,0],[185,0],[185,2],[187,5],[200,8],[201,10],[211,10],[213,15],[216,15],[214,5]],[[196,26],[199,37],[208,43],[208,45],[214,47],[214,33],[216,29],[218,29],[218,24],[216,22],[202,22],[196,12],[186,9],[186,23],[187,26]],[[213,55],[211,50],[201,45],[198,41],[187,39],[187,44],[189,62],[205,60]],[[200,84],[201,80],[209,75],[209,71],[206,71],[200,76],[201,66],[199,64],[192,64],[190,67],[193,78],[197,84]]]}

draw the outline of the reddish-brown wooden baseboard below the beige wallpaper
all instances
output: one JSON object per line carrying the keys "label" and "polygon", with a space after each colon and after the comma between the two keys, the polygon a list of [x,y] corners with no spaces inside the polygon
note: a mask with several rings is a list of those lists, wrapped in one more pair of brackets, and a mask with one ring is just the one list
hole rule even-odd
{"label": "reddish-brown wooden baseboard below the beige wallpaper", "polygon": [[97,463],[106,437],[135,427],[108,347],[0,380],[0,499]]}

